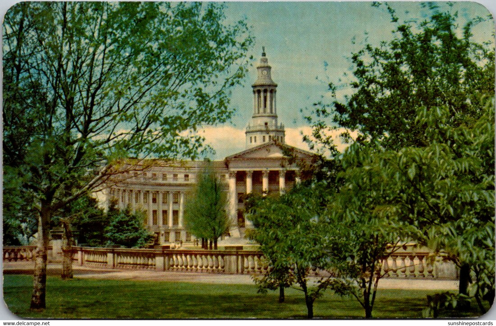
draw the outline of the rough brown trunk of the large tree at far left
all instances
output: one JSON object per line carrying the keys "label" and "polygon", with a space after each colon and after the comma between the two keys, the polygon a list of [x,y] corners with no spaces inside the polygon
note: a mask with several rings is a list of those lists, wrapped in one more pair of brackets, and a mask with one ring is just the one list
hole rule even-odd
{"label": "rough brown trunk of the large tree at far left", "polygon": [[47,290],[47,261],[48,241],[50,238],[50,208],[48,203],[41,203],[38,217],[38,235],[35,251],[35,264],[33,275],[33,295],[31,296],[31,309],[42,310],[46,308],[45,295]]}

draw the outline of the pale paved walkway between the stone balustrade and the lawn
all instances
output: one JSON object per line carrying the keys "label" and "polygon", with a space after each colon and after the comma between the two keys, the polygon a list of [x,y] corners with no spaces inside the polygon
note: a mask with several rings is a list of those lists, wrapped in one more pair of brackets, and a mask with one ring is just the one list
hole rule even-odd
{"label": "pale paved walkway between the stone balustrade and the lawn", "polygon": [[[32,274],[33,262],[3,262],[4,274]],[[60,264],[49,264],[48,275],[60,275]],[[111,270],[86,266],[73,266],[74,277],[95,279],[153,280],[166,282],[198,282],[211,284],[253,284],[247,274],[216,274],[195,272],[157,272],[154,270]],[[382,278],[379,288],[457,290],[458,281],[433,279]]]}

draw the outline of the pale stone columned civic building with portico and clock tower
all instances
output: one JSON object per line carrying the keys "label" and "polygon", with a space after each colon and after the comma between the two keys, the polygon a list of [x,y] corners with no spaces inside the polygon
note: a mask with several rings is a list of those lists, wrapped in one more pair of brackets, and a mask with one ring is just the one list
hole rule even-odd
{"label": "pale stone columned civic building with portico and clock tower", "polygon": [[[244,194],[250,192],[283,193],[300,180],[296,162],[310,161],[312,153],[285,144],[284,126],[277,122],[276,89],[271,66],[265,52],[256,67],[253,83],[253,115],[246,129],[246,150],[213,167],[229,185],[230,235],[244,236],[249,221],[243,216]],[[184,227],[186,193],[195,182],[204,162],[152,162],[143,172],[131,172],[124,181],[106,189],[106,197],[114,197],[120,208],[145,212],[145,224],[161,244],[191,241]]]}

